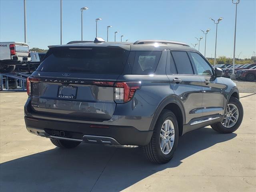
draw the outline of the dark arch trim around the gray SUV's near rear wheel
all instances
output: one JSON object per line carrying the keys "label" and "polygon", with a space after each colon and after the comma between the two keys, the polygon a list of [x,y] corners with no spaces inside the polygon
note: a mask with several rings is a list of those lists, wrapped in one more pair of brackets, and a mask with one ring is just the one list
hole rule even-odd
{"label": "dark arch trim around the gray SUV's near rear wheel", "polygon": [[160,116],[162,110],[168,109],[172,111],[177,120],[178,120],[178,126],[179,126],[179,135],[182,135],[183,132],[183,124],[185,124],[186,116],[185,116],[185,110],[183,108],[182,102],[177,98],[177,96],[168,96],[160,104],[158,105],[158,108],[156,109],[154,113],[153,120],[150,124],[150,130],[154,130],[154,127],[156,125],[156,121],[158,117]]}

